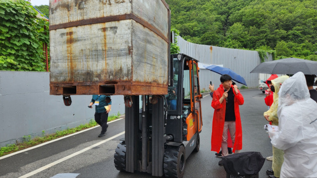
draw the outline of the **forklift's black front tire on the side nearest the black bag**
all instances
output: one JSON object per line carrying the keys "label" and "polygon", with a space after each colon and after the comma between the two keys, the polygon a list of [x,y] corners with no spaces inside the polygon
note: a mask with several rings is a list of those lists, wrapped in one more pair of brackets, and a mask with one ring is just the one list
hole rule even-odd
{"label": "forklift's black front tire on the side nearest the black bag", "polygon": [[164,174],[166,178],[182,178],[185,172],[185,147],[168,146],[164,156]]}

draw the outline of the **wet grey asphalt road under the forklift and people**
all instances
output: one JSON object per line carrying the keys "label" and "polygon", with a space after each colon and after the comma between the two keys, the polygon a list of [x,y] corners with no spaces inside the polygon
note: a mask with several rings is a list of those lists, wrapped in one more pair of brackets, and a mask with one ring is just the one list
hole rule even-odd
{"label": "wet grey asphalt road under the forklift and people", "polygon": [[[263,157],[271,156],[272,146],[263,126],[267,124],[263,112],[264,94],[260,90],[242,90],[244,105],[240,106],[243,149],[259,151]],[[211,124],[213,109],[211,97],[204,94],[202,99],[203,131],[200,134],[200,151],[186,160],[184,178],[225,178],[220,158],[211,152]],[[115,169],[113,154],[119,139],[124,137],[124,119],[109,123],[106,136],[98,138],[100,127],[20,152],[0,157],[0,178],[147,178],[145,173],[124,173]],[[265,170],[271,168],[271,161],[265,160],[259,173],[266,178]],[[66,175],[66,173],[72,173]],[[62,174],[62,175],[60,175]]]}

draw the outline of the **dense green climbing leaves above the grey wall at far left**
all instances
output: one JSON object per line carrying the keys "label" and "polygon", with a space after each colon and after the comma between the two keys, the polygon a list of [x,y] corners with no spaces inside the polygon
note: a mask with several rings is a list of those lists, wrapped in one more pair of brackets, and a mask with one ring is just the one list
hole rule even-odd
{"label": "dense green climbing leaves above the grey wall at far left", "polygon": [[45,71],[49,22],[26,0],[0,0],[0,70]]}

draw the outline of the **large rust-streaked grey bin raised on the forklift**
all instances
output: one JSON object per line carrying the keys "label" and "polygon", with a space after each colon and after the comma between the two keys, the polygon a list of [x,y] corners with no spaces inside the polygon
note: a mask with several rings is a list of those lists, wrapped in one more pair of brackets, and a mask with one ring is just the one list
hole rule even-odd
{"label": "large rust-streaked grey bin raised on the forklift", "polygon": [[169,34],[164,0],[50,0],[50,94],[167,94]]}

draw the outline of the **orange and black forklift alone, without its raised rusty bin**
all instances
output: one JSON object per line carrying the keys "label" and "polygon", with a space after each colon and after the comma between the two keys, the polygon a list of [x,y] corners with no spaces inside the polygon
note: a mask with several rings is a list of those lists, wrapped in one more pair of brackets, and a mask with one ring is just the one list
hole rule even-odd
{"label": "orange and black forklift alone, without its raised rusty bin", "polygon": [[167,95],[125,96],[125,138],[114,154],[115,168],[182,178],[186,159],[199,151],[202,109],[198,61],[172,54]]}

